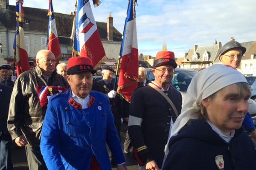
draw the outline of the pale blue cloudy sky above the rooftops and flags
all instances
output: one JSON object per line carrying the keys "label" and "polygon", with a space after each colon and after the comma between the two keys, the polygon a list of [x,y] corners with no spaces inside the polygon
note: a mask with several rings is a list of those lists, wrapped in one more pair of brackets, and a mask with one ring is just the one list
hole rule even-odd
{"label": "pale blue cloudy sky above the rooftops and flags", "polygon": [[[69,14],[76,0],[52,0],[55,12]],[[96,21],[106,22],[111,12],[114,26],[122,33],[128,0],[101,0],[92,5]],[[15,5],[15,0],[9,0]],[[194,45],[222,45],[234,37],[239,42],[256,40],[256,0],[137,0],[139,53],[155,56],[166,43],[175,57]],[[24,0],[23,6],[48,9],[47,0]],[[26,15],[26,11],[25,11]]]}

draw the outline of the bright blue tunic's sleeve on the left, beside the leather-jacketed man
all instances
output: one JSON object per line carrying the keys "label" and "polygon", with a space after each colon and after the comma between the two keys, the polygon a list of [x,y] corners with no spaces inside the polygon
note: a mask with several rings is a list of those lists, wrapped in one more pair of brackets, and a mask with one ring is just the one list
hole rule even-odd
{"label": "bright blue tunic's sleeve on the left, beside the leather-jacketed man", "polygon": [[58,148],[58,118],[52,106],[48,103],[44,124],[42,127],[42,136],[40,149],[48,170],[64,170],[61,161],[61,155]]}

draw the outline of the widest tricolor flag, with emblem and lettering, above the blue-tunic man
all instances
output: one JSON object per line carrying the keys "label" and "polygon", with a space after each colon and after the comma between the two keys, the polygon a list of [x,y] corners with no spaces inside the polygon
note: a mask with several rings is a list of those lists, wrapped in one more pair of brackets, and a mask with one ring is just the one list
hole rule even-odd
{"label": "widest tricolor flag, with emblem and lettering, above the blue-tunic man", "polygon": [[[93,0],[93,3],[99,4],[99,0]],[[90,57],[93,67],[106,55],[89,0],[77,2],[76,31],[73,43],[75,54]]]}

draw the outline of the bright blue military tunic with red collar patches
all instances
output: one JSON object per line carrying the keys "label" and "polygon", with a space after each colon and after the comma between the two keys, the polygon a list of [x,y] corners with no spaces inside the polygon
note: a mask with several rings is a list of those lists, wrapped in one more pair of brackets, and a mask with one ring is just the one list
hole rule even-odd
{"label": "bright blue military tunic with red collar patches", "polygon": [[41,137],[41,153],[49,170],[89,170],[94,155],[102,170],[111,170],[106,143],[116,164],[125,162],[107,96],[91,91],[81,109],[72,91],[53,96]]}

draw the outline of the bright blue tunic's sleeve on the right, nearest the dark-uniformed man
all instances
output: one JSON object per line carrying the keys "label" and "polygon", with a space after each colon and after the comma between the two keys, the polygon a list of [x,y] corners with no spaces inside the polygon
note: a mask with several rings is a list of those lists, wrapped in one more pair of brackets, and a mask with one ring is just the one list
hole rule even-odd
{"label": "bright blue tunic's sleeve on the right, nearest the dark-uniformed man", "polygon": [[107,97],[106,97],[106,100],[107,100],[107,115],[108,115],[106,142],[108,144],[108,147],[111,150],[111,153],[114,156],[116,164],[122,164],[125,162],[125,157],[122,153],[122,147],[120,144],[119,137],[117,135],[116,127],[114,124],[113,113],[111,111],[110,102]]}

